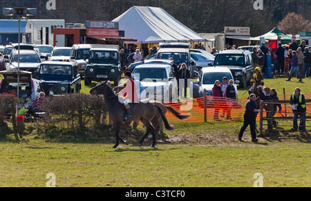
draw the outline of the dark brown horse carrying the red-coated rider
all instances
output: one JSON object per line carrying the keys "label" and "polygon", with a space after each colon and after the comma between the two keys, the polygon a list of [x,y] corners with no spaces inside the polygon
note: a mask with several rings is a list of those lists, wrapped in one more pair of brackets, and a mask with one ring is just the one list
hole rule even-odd
{"label": "dark brown horse carrying the red-coated rider", "polygon": [[[124,122],[123,119],[125,116],[124,105],[120,103],[119,97],[117,97],[117,95],[113,93],[113,90],[106,85],[106,82],[92,88],[90,90],[90,93],[92,95],[100,95],[100,94],[104,95],[104,101],[109,111],[109,117],[111,117],[111,120],[115,125],[116,142],[113,148],[116,148],[119,145],[119,141],[124,144],[128,144],[128,142],[124,141],[119,135],[120,126]],[[153,135],[153,143],[151,147],[156,146],[156,131],[160,130],[158,121],[159,118],[156,117],[157,112],[162,118],[165,128],[167,128],[168,130],[173,130],[174,127],[169,125],[167,117],[165,117],[161,108],[156,104],[151,104],[149,102],[147,103],[140,102],[137,104],[133,104],[132,117],[130,119],[127,119],[126,122],[133,122],[136,119],[140,119],[143,122],[144,126],[146,126],[147,131],[144,134],[144,136],[140,139],[140,146],[142,146],[144,139],[148,136],[149,133],[152,133]]]}

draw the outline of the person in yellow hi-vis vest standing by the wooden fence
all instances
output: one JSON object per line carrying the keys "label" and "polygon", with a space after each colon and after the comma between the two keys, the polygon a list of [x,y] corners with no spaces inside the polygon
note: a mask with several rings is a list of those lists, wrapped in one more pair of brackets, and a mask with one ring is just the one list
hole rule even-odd
{"label": "person in yellow hi-vis vest standing by the wooden fence", "polygon": [[298,117],[300,117],[299,132],[305,130],[305,113],[307,106],[305,105],[305,96],[301,93],[300,88],[295,88],[294,93],[290,97],[290,104],[292,105],[293,117],[293,128],[291,131],[298,130]]}

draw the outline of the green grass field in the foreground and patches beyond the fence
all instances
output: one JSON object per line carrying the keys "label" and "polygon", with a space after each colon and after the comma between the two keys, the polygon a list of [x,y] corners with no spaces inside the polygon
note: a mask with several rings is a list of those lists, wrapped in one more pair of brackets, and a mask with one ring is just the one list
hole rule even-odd
{"label": "green grass field in the foreground and patches beyond the fence", "polygon": [[[265,79],[265,83],[280,91],[279,95],[283,88],[291,94],[296,86],[302,93],[311,91],[310,78],[299,83],[280,77]],[[82,92],[88,93],[93,86],[82,86]],[[239,98],[247,97],[242,96],[245,91],[239,90]],[[308,132],[265,132],[258,136],[258,143],[252,143],[249,128],[245,142],[238,142],[243,122],[171,124],[176,129],[165,131],[169,138],[159,140],[156,149],[147,140],[142,148],[138,146],[144,133],[141,126],[129,146],[120,144],[117,149],[112,149],[113,129],[105,129],[102,135],[110,137],[97,142],[49,140],[38,129],[16,143],[10,126],[1,128],[0,186],[44,187],[49,173],[55,175],[56,186],[252,187],[256,173],[263,175],[265,187],[311,186]]]}

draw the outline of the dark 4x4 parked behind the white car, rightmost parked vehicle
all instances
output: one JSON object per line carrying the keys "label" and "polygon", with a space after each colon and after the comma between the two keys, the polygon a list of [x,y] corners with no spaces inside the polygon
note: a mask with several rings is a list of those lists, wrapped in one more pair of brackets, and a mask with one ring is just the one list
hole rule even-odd
{"label": "dark 4x4 parked behind the white car, rightmost parked vehicle", "polygon": [[246,88],[254,74],[252,56],[247,50],[223,50],[216,55],[214,66],[228,67],[240,88]]}

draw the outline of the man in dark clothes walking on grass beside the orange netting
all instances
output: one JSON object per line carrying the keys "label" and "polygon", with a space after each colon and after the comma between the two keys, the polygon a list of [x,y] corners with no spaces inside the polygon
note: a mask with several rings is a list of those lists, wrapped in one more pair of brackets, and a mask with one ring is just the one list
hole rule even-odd
{"label": "man in dark clothes walking on grass beside the orange netting", "polygon": [[253,93],[249,95],[249,100],[246,102],[245,108],[246,109],[244,113],[244,123],[240,133],[238,134],[238,140],[242,141],[245,129],[247,128],[247,126],[250,126],[252,142],[257,142],[258,140],[256,139],[256,115],[260,112],[260,110],[257,110],[256,95],[254,95]]}

